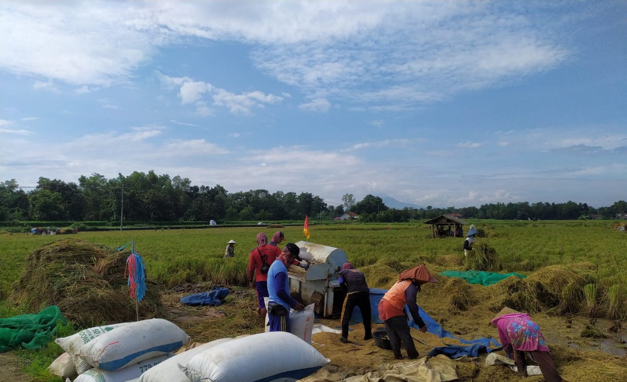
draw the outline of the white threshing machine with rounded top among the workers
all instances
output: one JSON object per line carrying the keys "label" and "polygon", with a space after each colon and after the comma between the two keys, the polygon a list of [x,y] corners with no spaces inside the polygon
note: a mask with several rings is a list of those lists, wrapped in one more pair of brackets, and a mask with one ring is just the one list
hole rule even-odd
{"label": "white threshing machine with rounded top among the workers", "polygon": [[344,302],[344,292],[338,277],[342,265],[348,262],[346,252],[340,248],[328,247],[298,241],[300,257],[310,265],[307,270],[290,267],[290,292],[297,294],[303,304],[315,304],[315,312],[324,317],[339,317]]}

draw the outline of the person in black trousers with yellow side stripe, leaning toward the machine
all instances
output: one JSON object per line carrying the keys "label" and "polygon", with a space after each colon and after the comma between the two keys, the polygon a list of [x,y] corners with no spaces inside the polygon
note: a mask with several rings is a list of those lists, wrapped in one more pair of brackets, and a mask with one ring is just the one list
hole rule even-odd
{"label": "person in black trousers with yellow side stripe, leaning toward the machine", "polygon": [[355,306],[359,307],[364,322],[364,340],[372,338],[372,312],[370,307],[370,289],[366,284],[366,275],[356,270],[351,263],[346,262],[340,270],[339,283],[346,296],[342,305],[342,337],[344,344],[349,342],[349,321]]}

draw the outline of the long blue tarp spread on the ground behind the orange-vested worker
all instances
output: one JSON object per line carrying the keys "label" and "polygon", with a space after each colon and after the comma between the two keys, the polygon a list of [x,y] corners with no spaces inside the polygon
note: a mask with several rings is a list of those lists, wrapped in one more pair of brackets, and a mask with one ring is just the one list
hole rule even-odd
{"label": "long blue tarp spread on the ground behind the orange-vested worker", "polygon": [[[372,322],[373,323],[376,323],[376,324],[383,323],[383,321],[381,321],[381,319],[379,318],[378,305],[379,305],[379,301],[381,301],[381,298],[386,292],[387,292],[386,289],[376,289],[376,288],[370,289],[370,307],[372,310]],[[407,312],[407,316],[409,317],[409,321],[408,321],[409,327],[413,327],[414,329],[420,329],[418,325],[416,325],[416,323],[414,322],[414,319],[411,318],[411,314],[409,313],[409,308],[407,306],[405,307],[405,310]],[[493,338],[480,337],[480,338],[472,339],[468,341],[466,339],[456,337],[455,334],[444,330],[443,327],[440,324],[438,324],[438,322],[436,322],[433,318],[431,318],[431,316],[429,316],[419,306],[418,306],[418,314],[420,315],[420,318],[423,319],[424,323],[426,324],[427,331],[429,333],[435,334],[436,336],[440,338],[444,338],[444,337],[454,338],[460,341],[461,344],[464,344],[463,346],[449,345],[449,346],[444,346],[441,348],[433,348],[433,350],[431,350],[429,355],[435,355],[435,354],[441,353],[441,354],[446,354],[450,358],[460,358],[461,356],[476,357],[478,353],[482,353],[484,351],[485,353],[490,353],[491,351],[501,348],[501,344],[496,339],[493,339]],[[353,314],[352,316],[350,316],[350,321],[351,322],[363,322],[361,318],[361,312],[359,312],[358,307],[355,307],[355,310],[353,310]],[[434,353],[436,351],[439,353]],[[431,353],[434,353],[434,354],[431,354]]]}

